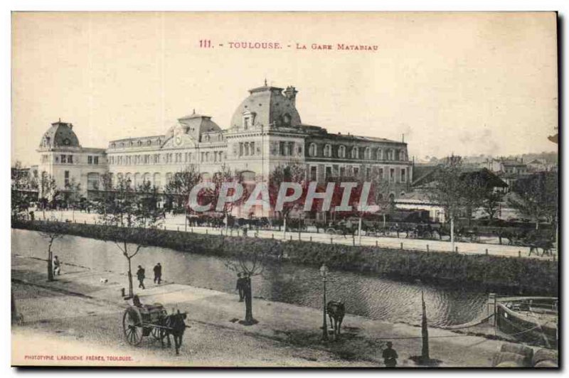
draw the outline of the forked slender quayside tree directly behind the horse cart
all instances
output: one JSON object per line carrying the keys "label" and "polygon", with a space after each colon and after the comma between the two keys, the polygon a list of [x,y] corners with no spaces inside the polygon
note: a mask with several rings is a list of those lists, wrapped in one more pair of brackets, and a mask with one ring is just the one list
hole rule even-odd
{"label": "forked slender quayside tree directly behind the horse cart", "polygon": [[[156,207],[156,190],[149,183],[132,188],[130,180],[117,180],[112,195],[100,202],[97,212],[106,228],[105,238],[114,242],[128,263],[129,298],[134,295],[132,285],[132,259],[147,246],[147,237],[140,237],[139,229],[156,229],[164,219],[164,211]],[[155,188],[154,188],[155,189]],[[137,230],[138,229],[138,230]]]}

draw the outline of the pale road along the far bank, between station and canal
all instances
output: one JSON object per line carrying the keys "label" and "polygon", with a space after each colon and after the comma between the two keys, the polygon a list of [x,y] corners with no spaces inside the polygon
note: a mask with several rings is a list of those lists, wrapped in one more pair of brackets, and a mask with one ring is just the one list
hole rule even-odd
{"label": "pale road along the far bank, between station and canal", "polygon": [[[36,219],[43,219],[43,212],[36,212]],[[98,222],[98,215],[95,213],[79,212],[79,211],[48,211],[45,212],[45,217],[55,218],[57,220],[71,222]],[[163,227],[165,229],[179,230],[197,233],[210,233],[210,234],[230,234],[240,235],[241,231],[238,229],[220,229],[212,227],[188,227],[185,224],[184,215],[167,215],[164,220]],[[252,230],[249,231],[249,236],[255,234]],[[393,249],[413,249],[421,252],[451,252],[452,247],[449,241],[432,240],[432,239],[408,239],[405,237],[371,237],[362,235],[361,238],[343,237],[341,235],[330,235],[322,232],[285,232],[278,230],[259,230],[256,232],[257,237],[275,238],[275,239],[294,239],[304,240],[306,242],[320,242],[326,244],[344,244],[344,245],[362,245],[362,246],[377,246]],[[504,257],[522,257],[531,259],[555,259],[556,252],[554,251],[553,257],[538,256],[538,254],[529,255],[529,247],[511,246],[503,244],[474,243],[474,242],[455,242],[456,250],[460,254],[489,254],[492,256]]]}

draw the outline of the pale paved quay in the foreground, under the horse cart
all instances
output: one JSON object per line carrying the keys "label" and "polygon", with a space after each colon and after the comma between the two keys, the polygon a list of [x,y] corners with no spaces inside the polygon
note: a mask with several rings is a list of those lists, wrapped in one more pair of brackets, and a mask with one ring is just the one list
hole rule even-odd
{"label": "pale paved quay in the foreground, under the horse cart", "polygon": [[[58,276],[56,281],[47,282],[46,261],[18,257],[14,253],[17,251],[13,251],[12,256],[16,302],[26,321],[21,332],[15,328],[18,335],[15,340],[20,343],[26,340],[28,327],[37,328],[38,335],[33,335],[38,338],[46,332],[54,335],[53,327],[62,333],[69,333],[69,328],[73,328],[76,333],[77,328],[86,324],[85,319],[89,319],[93,322],[88,324],[94,335],[87,333],[81,341],[102,339],[102,347],[121,353],[125,350],[135,355],[159,353],[163,356],[162,363],[170,364],[171,351],[164,352],[156,345],[145,346],[144,343],[135,348],[124,342],[120,322],[127,303],[120,297],[120,288],[127,284],[126,276],[65,266],[65,274]],[[192,328],[184,337],[186,341],[181,352],[187,358],[172,360],[174,365],[199,365],[201,362],[223,366],[381,367],[381,350],[386,341],[392,340],[400,356],[399,365],[414,367],[415,362],[410,357],[420,354],[421,350],[420,328],[403,323],[346,315],[340,339],[323,343],[320,341],[322,313],[313,308],[255,298],[253,313],[259,323],[245,326],[238,322],[244,317],[244,305],[235,295],[171,282],[149,286],[144,291],[137,291],[142,303],[158,302],[168,311],[176,308],[188,311],[188,323]],[[31,288],[49,294],[26,295]],[[497,340],[435,328],[430,328],[429,334],[430,355],[440,360],[442,367],[490,366],[491,358],[502,344]],[[200,340],[199,347],[195,340]],[[231,345],[226,345],[228,340]],[[238,347],[241,342],[254,346],[241,350]],[[33,343],[26,345],[33,347]],[[227,353],[220,352],[225,349]],[[140,361],[151,364],[152,359],[148,358]]]}

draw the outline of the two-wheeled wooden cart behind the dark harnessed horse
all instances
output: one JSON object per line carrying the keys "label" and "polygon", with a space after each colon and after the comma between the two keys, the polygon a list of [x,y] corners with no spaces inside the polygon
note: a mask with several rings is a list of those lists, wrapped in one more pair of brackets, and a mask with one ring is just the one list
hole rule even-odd
{"label": "two-wheeled wooden cart behind the dark harnessed horse", "polygon": [[144,337],[160,340],[164,335],[164,319],[168,315],[161,303],[129,306],[122,315],[124,338],[130,345],[139,345]]}

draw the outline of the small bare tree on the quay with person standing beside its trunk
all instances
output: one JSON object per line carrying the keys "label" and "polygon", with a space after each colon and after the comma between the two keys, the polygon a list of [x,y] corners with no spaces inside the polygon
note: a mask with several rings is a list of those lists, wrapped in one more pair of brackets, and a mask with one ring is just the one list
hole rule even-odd
{"label": "small bare tree on the quay with person standing beside its trunk", "polygon": [[[240,248],[233,257],[225,260],[225,266],[230,271],[245,274],[248,277],[258,276],[265,270],[267,262],[275,257],[279,244],[273,240],[267,249],[266,239],[251,238],[245,242],[249,244],[248,248]],[[241,323],[252,325],[258,322],[253,318],[251,281],[250,279],[245,281],[245,320]]]}

